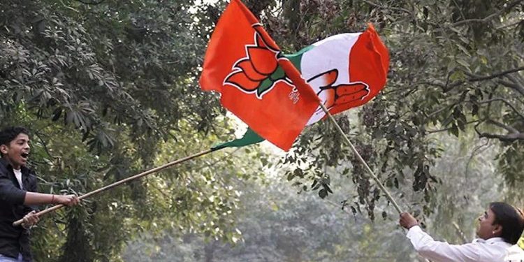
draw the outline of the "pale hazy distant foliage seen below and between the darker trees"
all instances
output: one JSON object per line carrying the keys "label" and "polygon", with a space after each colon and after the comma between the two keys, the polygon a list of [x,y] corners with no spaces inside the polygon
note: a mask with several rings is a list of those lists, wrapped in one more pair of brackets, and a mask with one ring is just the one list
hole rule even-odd
{"label": "pale hazy distant foliage seen below and between the darker trees", "polygon": [[[518,196],[519,191],[498,187],[493,157],[495,143],[477,141],[474,133],[456,138],[435,134],[443,145],[433,174],[442,180],[432,194],[425,215],[423,192],[412,191],[413,178],[399,183],[405,198],[403,207],[416,214],[425,231],[435,239],[460,244],[470,242],[475,221],[498,199]],[[481,142],[481,143],[479,143]],[[257,149],[257,150],[263,150]],[[269,157],[275,163],[277,157]],[[262,161],[261,161],[262,163]],[[358,189],[347,182],[342,168],[326,168],[333,182],[333,194],[325,198],[312,190],[289,190],[282,182],[282,170],[268,169],[267,184],[238,181],[242,196],[235,211],[242,239],[234,245],[218,240],[205,241],[199,235],[164,232],[136,238],[124,251],[126,261],[425,261],[418,256],[405,231],[398,225],[398,215],[384,201],[377,201],[375,212],[382,213],[372,221],[356,205],[340,208],[340,200],[358,196]],[[247,170],[249,173],[249,170]],[[465,175],[463,175],[465,174]],[[509,201],[521,206],[522,201]],[[362,210],[365,211],[365,210]]]}

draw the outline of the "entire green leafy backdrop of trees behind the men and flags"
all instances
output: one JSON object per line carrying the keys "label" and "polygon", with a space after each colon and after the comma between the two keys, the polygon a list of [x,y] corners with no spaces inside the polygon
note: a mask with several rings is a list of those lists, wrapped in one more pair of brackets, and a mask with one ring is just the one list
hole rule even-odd
{"label": "entire green leafy backdrop of trees behind the men and flags", "polygon": [[[375,24],[388,85],[337,121],[428,231],[470,239],[488,202],[524,206],[522,1],[245,2],[286,52]],[[33,131],[41,191],[83,194],[233,136],[196,83],[225,5],[1,1],[0,122]],[[282,156],[219,152],[101,194],[43,219],[37,261],[416,260],[341,141],[323,122]]]}

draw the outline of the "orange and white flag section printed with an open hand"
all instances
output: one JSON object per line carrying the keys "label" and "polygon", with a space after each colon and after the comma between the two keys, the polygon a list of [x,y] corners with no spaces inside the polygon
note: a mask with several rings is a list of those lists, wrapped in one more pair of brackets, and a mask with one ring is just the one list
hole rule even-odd
{"label": "orange and white flag section printed with an open hand", "polygon": [[[286,57],[331,115],[367,103],[386,85],[389,54],[371,24],[364,32],[330,36]],[[307,124],[324,117],[319,107]]]}

